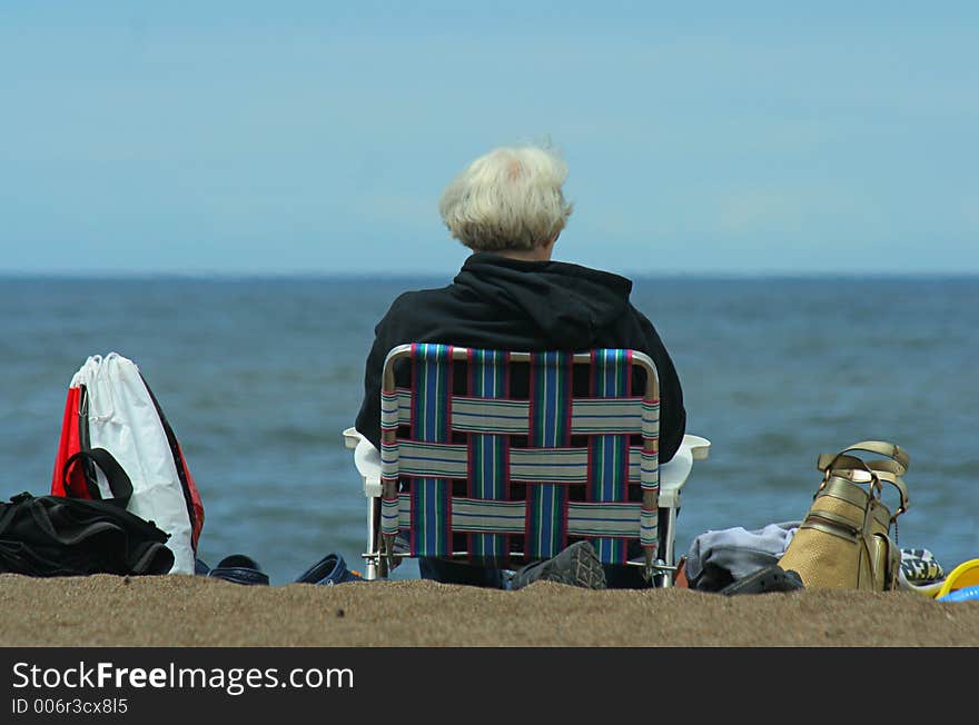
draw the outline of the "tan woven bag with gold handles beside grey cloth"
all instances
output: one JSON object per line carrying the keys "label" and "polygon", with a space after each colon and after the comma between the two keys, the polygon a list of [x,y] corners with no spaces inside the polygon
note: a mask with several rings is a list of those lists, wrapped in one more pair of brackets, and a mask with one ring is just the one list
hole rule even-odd
{"label": "tan woven bag with gold handles beside grey cloth", "polygon": [[[863,458],[853,451],[883,456]],[[863,440],[817,461],[823,479],[799,530],[779,560],[808,588],[883,592],[898,585],[900,550],[891,526],[908,509],[903,476],[909,456],[899,446]],[[891,515],[881,499],[883,484],[897,488],[900,505]]]}

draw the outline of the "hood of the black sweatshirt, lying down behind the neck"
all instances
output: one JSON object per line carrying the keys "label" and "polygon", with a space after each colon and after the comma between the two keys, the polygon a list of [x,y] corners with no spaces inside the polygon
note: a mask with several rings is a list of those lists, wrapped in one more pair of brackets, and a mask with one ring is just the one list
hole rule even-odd
{"label": "hood of the black sweatshirt, lying down behind the neck", "polygon": [[492,252],[468,257],[457,289],[514,319],[530,319],[553,347],[591,347],[630,308],[632,282],[562,261],[523,261]]}

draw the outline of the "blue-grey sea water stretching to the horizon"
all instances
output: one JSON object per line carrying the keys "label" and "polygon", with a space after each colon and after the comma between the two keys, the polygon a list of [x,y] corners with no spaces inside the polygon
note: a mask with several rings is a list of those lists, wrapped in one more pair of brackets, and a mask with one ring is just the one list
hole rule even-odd
{"label": "blue-grey sea water stretching to the horizon", "polygon": [[[274,585],[330,552],[360,564],[366,505],[342,438],[373,328],[447,279],[0,279],[0,496],[50,490],[68,384],[137,362],[200,488],[200,557],[253,556]],[[979,557],[979,278],[639,279],[712,441],[678,552],[710,529],[798,520],[815,459],[863,439],[911,456],[901,547]],[[416,568],[400,567],[399,578]]]}

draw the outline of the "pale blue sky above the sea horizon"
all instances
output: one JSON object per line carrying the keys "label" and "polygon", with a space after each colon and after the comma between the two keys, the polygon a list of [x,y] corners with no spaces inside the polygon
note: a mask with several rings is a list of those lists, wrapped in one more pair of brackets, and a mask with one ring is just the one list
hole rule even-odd
{"label": "pale blue sky above the sea horizon", "polygon": [[562,259],[979,272],[977,6],[678,4],[4,2],[0,272],[452,274],[548,138]]}

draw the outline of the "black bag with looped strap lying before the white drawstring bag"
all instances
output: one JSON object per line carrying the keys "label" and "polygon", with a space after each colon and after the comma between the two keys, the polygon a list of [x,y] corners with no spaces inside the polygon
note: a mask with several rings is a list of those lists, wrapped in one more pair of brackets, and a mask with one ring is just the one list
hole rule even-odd
{"label": "black bag with looped strap lying before the white drawstring bag", "polygon": [[77,463],[98,466],[113,497],[100,498],[92,486],[93,500],[24,491],[0,504],[0,573],[167,574],[174,566],[167,534],[126,510],[132,484],[119,463],[105,448],[93,448],[71,456],[63,470]]}

